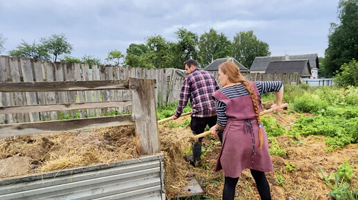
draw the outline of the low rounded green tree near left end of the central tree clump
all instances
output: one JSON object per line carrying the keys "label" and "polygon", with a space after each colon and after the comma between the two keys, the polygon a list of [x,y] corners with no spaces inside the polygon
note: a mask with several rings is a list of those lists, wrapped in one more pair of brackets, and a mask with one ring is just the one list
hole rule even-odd
{"label": "low rounded green tree near left end of the central tree clump", "polygon": [[146,68],[153,67],[153,61],[150,57],[149,48],[145,44],[130,44],[126,50],[126,59],[124,60],[127,66],[141,66]]}

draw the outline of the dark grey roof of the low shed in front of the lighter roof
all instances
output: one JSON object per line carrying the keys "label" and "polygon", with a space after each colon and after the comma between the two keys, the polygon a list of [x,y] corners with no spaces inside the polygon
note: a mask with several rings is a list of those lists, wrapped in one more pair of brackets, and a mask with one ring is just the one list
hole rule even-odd
{"label": "dark grey roof of the low shed in front of the lighter roof", "polygon": [[266,73],[298,73],[300,77],[309,77],[311,67],[308,60],[272,61],[267,66]]}

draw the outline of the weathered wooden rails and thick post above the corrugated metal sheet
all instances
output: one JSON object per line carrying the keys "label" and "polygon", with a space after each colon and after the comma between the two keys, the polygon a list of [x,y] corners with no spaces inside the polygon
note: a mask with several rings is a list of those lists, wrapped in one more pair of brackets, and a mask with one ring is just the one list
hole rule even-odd
{"label": "weathered wooden rails and thick post above the corrugated metal sheet", "polygon": [[25,134],[43,134],[76,129],[91,129],[135,124],[139,154],[160,151],[155,103],[155,80],[129,78],[129,80],[68,81],[68,82],[1,82],[0,91],[7,93],[73,92],[99,90],[129,90],[133,100],[112,102],[73,102],[1,107],[1,113],[42,113],[46,111],[71,111],[76,109],[101,109],[105,107],[132,107],[133,114],[101,116],[71,120],[22,122],[0,125],[0,137]]}

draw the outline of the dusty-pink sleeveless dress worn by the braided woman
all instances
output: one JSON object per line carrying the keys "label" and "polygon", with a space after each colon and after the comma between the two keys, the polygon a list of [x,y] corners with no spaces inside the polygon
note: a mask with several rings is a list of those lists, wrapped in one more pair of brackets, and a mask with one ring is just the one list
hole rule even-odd
{"label": "dusty-pink sleeveless dress worn by the braided woman", "polygon": [[[250,84],[261,102],[256,84],[254,82],[250,82]],[[269,142],[264,129],[262,129],[264,143],[262,149],[259,149],[259,127],[250,95],[230,99],[218,90],[213,96],[226,104],[225,114],[228,116],[215,172],[223,169],[225,176],[232,178],[239,177],[242,170],[246,168],[273,172]],[[261,104],[259,111],[261,111]]]}

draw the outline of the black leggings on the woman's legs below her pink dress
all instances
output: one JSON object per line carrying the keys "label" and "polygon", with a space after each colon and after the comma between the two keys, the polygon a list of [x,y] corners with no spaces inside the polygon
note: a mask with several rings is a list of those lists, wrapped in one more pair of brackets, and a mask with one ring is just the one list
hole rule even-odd
{"label": "black leggings on the woman's legs below her pink dress", "polygon": [[[250,172],[255,179],[256,187],[259,191],[259,197],[261,197],[262,200],[271,199],[270,186],[269,182],[267,182],[265,173],[257,170],[250,170]],[[223,200],[232,200],[235,198],[235,188],[237,181],[239,181],[239,177],[231,178],[225,176]]]}

